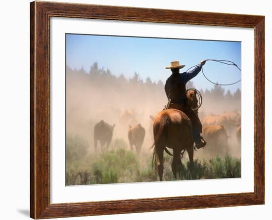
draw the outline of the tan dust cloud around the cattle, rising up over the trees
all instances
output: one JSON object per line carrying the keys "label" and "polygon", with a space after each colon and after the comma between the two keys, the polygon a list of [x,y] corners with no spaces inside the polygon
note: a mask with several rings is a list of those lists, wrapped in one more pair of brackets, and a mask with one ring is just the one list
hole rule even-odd
{"label": "tan dust cloud around the cattle, rising up over the trees", "polygon": [[[192,86],[192,83],[188,84],[189,88]],[[227,118],[232,122],[235,121],[226,128],[229,136],[228,153],[240,158],[240,143],[236,137],[235,125],[240,115],[240,91],[230,93],[227,87],[215,86],[211,90],[201,90],[201,93],[201,121],[208,116],[224,114],[227,114]],[[130,149],[129,126],[141,124],[145,129],[141,154],[149,155],[153,144],[153,124],[150,116],[156,116],[166,103],[164,82],[155,83],[149,78],[141,79],[137,73],[131,79],[126,79],[124,75],[116,77],[109,70],[99,69],[97,63],[91,66],[90,72],[83,69],[72,70],[68,66],[66,68],[66,134],[84,138],[88,142],[88,151],[91,154],[95,154],[94,125],[103,120],[109,125],[115,125],[112,143],[116,139],[123,139],[127,143],[127,149]],[[110,145],[110,149],[112,147]],[[194,157],[209,158],[208,147],[209,144],[203,150],[195,151]],[[99,148],[98,143],[98,151]]]}

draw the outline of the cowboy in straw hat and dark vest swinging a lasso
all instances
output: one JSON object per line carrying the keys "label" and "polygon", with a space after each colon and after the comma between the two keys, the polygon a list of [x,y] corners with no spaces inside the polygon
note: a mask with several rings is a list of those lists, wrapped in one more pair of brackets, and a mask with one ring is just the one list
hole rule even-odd
{"label": "cowboy in straw hat and dark vest swinging a lasso", "polygon": [[165,92],[170,101],[168,108],[181,110],[188,116],[192,123],[193,139],[197,149],[204,147],[206,141],[200,135],[202,133],[202,125],[198,115],[188,105],[186,83],[200,72],[205,62],[205,60],[202,60],[193,70],[184,73],[180,73],[180,69],[185,65],[180,65],[179,61],[172,61],[171,66],[166,67],[166,69],[171,69],[172,71],[172,75],[165,83]]}

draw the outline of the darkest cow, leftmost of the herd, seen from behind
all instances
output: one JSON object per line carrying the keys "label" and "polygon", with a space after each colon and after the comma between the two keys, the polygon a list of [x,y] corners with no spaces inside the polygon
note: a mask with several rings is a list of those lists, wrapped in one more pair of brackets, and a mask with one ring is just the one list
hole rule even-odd
{"label": "darkest cow, leftmost of the herd, seen from behind", "polygon": [[96,147],[97,147],[97,140],[99,140],[101,148],[105,144],[107,146],[107,149],[109,148],[114,126],[115,125],[113,125],[113,126],[109,125],[108,123],[104,122],[103,120],[101,120],[100,122],[95,124],[94,131],[93,131],[93,140],[94,140],[95,151],[96,151]]}

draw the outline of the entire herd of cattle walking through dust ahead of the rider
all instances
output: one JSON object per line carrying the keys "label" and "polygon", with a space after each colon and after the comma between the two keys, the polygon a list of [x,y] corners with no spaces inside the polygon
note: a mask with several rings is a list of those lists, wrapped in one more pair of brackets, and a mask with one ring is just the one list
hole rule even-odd
{"label": "entire herd of cattle walking through dust ahead of the rider", "polygon": [[[241,141],[241,118],[239,112],[228,111],[220,115],[209,114],[206,112],[199,112],[199,118],[202,123],[202,135],[207,142],[205,146],[206,154],[212,156],[227,155],[230,152],[229,139],[237,146],[237,152],[240,151]],[[136,154],[139,155],[143,141],[146,135],[150,135],[153,140],[153,116],[148,117],[149,124],[140,123],[136,120],[136,113],[130,110],[121,111],[118,122],[120,126],[127,128],[127,140],[130,149],[133,151],[134,146]],[[146,128],[144,128],[145,125]],[[112,140],[115,125],[109,125],[107,122],[101,120],[95,124],[93,130],[94,149],[97,150],[97,142],[100,146],[108,149]],[[148,131],[146,133],[146,130]],[[116,133],[117,134],[117,133]]]}

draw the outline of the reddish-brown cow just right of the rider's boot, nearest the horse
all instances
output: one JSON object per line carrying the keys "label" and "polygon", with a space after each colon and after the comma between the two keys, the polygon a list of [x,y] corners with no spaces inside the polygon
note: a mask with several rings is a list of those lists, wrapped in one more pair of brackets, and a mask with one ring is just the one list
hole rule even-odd
{"label": "reddish-brown cow just right of the rider's boot, nearest the horse", "polygon": [[227,132],[223,125],[210,125],[203,128],[203,138],[207,141],[207,150],[212,154],[226,154],[228,151]]}

